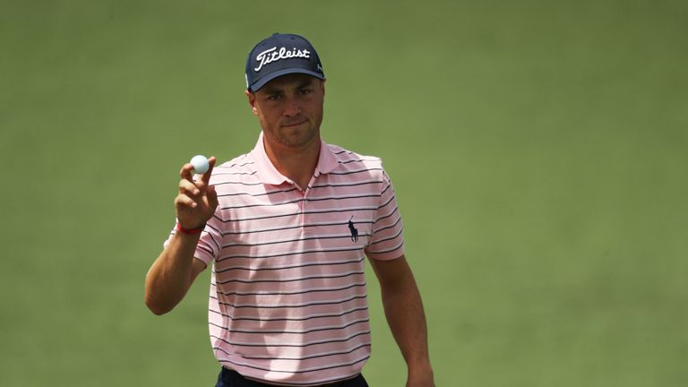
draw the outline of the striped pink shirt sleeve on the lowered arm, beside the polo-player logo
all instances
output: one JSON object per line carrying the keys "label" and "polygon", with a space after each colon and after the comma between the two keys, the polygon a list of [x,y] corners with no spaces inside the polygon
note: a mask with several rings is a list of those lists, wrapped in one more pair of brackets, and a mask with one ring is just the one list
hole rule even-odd
{"label": "striped pink shirt sleeve on the lowered arm, beside the polo-player logo", "polygon": [[391,260],[404,254],[404,226],[390,177],[383,171],[380,203],[375,211],[372,236],[366,246],[368,258]]}

